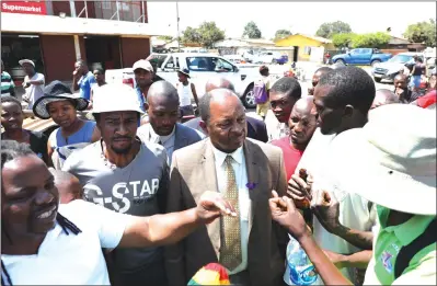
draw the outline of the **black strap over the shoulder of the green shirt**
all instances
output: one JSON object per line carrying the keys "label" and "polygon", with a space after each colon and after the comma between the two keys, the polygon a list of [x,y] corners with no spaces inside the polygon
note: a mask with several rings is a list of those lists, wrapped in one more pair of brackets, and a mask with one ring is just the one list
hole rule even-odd
{"label": "black strap over the shoulder of the green shirt", "polygon": [[401,248],[396,262],[394,263],[394,279],[398,279],[402,273],[409,267],[411,260],[424,248],[436,242],[436,219],[434,219],[425,231],[418,236],[413,242]]}

